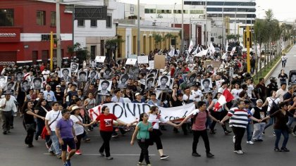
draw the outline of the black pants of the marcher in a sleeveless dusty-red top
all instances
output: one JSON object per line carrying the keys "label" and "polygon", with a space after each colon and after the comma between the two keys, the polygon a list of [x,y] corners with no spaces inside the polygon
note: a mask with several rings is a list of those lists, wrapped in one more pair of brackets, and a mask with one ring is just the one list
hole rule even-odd
{"label": "black pants of the marcher in a sleeveless dusty-red top", "polygon": [[192,143],[192,153],[197,153],[197,143],[199,141],[199,136],[202,136],[202,140],[204,140],[204,147],[206,148],[206,153],[210,152],[209,148],[209,137],[206,133],[206,129],[202,131],[192,130],[193,132],[193,143]]}

